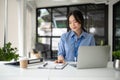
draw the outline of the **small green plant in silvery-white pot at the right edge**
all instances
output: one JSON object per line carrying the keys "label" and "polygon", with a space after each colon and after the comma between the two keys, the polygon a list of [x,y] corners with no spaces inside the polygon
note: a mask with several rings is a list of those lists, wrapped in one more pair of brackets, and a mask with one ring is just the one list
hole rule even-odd
{"label": "small green plant in silvery-white pot at the right edge", "polygon": [[114,59],[113,67],[116,70],[120,70],[120,50],[113,51],[113,59]]}

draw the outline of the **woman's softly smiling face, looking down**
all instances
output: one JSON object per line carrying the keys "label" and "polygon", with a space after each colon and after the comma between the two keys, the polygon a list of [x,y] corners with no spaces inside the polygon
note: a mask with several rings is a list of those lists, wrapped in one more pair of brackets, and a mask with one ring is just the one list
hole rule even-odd
{"label": "woman's softly smiling face, looking down", "polygon": [[81,24],[76,21],[73,15],[69,17],[69,26],[70,26],[70,29],[74,32],[81,31]]}

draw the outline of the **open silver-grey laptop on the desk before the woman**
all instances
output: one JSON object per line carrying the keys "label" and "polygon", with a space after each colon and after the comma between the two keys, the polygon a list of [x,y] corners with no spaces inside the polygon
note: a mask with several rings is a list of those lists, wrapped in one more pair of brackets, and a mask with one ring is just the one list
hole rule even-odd
{"label": "open silver-grey laptop on the desk before the woman", "polygon": [[76,67],[78,69],[107,67],[109,52],[110,46],[80,46]]}

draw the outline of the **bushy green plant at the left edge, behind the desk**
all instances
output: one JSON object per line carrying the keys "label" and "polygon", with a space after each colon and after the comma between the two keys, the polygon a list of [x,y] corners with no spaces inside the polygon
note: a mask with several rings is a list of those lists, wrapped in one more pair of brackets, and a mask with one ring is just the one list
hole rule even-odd
{"label": "bushy green plant at the left edge, behind the desk", "polygon": [[11,43],[6,43],[3,47],[0,47],[0,61],[11,61],[18,60],[19,54],[17,53],[17,48],[12,48]]}

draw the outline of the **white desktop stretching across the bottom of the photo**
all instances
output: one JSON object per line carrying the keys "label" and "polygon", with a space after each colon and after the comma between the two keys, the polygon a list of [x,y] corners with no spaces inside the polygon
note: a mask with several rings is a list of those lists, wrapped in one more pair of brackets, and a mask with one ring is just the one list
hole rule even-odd
{"label": "white desktop stretching across the bottom of the photo", "polygon": [[76,69],[67,65],[63,70],[28,69],[4,65],[0,62],[0,80],[120,80],[120,71],[113,68]]}

